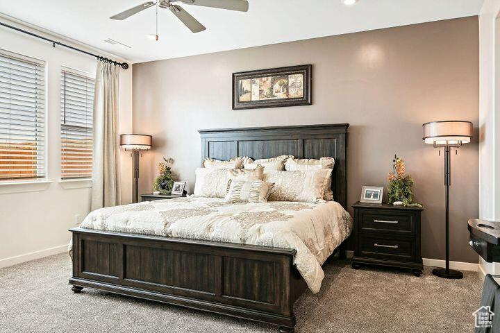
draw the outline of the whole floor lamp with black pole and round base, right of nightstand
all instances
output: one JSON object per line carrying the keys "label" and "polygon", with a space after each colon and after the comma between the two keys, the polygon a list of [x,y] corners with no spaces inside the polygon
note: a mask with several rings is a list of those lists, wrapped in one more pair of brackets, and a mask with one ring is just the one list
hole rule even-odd
{"label": "whole floor lamp with black pole and round base, right of nightstand", "polygon": [[[446,198],[446,267],[433,269],[433,274],[440,278],[461,279],[460,271],[449,268],[449,186],[451,185],[451,148],[459,148],[472,138],[472,123],[470,121],[433,121],[424,123],[424,142],[434,148],[444,150],[444,189]],[[441,153],[441,151],[440,151]]]}

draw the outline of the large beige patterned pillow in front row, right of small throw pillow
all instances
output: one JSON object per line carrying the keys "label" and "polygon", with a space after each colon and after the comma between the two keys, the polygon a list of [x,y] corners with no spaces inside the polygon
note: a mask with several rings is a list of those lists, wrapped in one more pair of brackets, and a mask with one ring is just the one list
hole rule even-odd
{"label": "large beige patterned pillow in front row, right of small throw pillow", "polygon": [[310,171],[265,171],[263,180],[274,182],[269,201],[306,201],[315,203],[324,198],[324,187],[332,169]]}

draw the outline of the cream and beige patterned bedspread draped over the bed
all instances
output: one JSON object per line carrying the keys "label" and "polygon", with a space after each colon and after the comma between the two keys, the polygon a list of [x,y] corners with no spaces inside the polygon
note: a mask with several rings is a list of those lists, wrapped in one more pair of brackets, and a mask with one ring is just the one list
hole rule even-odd
{"label": "cream and beige patterned bedspread draped over the bed", "polygon": [[294,264],[317,293],[321,265],[349,236],[352,219],[333,201],[230,204],[191,196],[101,208],[81,228],[294,248]]}

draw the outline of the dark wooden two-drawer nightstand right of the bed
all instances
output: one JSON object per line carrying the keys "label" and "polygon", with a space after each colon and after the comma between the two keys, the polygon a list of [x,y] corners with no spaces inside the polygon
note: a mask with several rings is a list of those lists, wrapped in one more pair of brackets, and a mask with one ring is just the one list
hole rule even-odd
{"label": "dark wooden two-drawer nightstand right of the bed", "polygon": [[355,203],[355,248],[352,268],[376,264],[411,268],[422,274],[420,213],[422,208],[389,204]]}

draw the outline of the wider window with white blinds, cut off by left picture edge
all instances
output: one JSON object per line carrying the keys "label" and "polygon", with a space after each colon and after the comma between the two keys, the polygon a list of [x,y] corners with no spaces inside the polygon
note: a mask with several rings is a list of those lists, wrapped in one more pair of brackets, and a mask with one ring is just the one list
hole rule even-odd
{"label": "wider window with white blinds, cut off by left picture edge", "polygon": [[0,181],[45,169],[44,62],[0,50]]}

